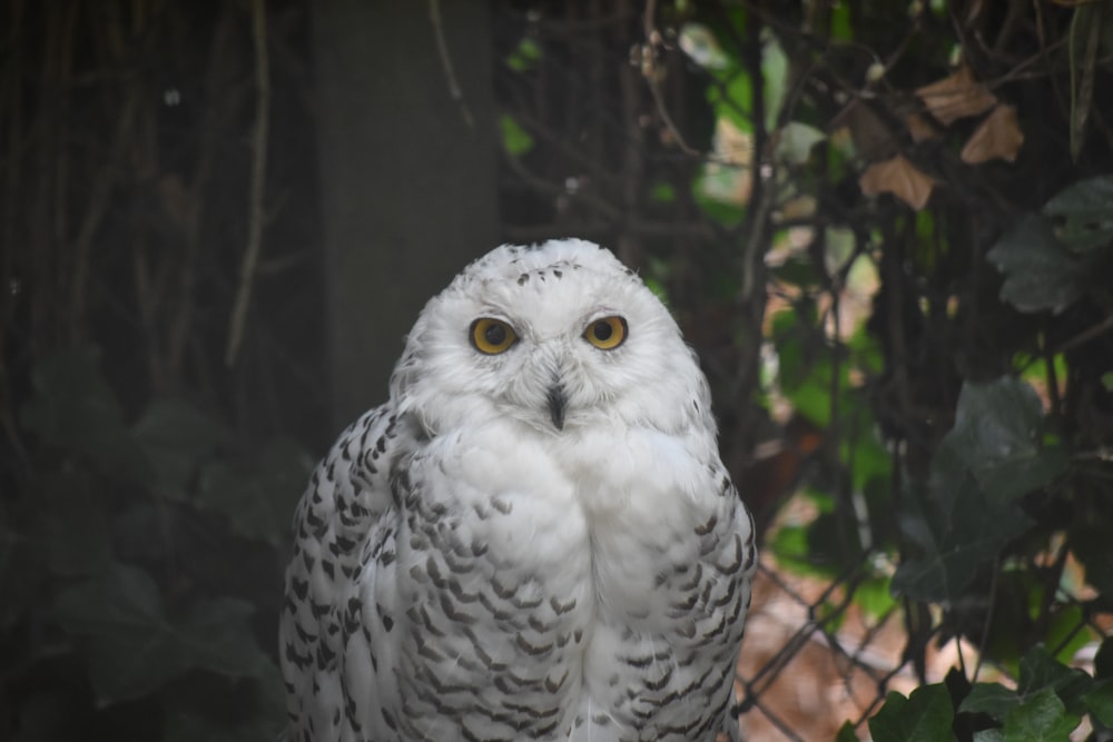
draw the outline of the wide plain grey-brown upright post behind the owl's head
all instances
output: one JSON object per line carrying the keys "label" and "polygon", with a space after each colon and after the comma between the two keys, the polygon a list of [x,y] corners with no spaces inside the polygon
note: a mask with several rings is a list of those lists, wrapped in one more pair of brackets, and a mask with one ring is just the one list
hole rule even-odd
{"label": "wide plain grey-brown upright post behind the owl's head", "polygon": [[386,399],[424,303],[495,246],[491,9],[328,0],[313,11],[331,413],[343,426]]}

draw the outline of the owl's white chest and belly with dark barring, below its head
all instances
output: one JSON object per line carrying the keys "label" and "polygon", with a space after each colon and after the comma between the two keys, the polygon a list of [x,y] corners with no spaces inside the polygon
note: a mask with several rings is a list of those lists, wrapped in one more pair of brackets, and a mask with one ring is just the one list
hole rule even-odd
{"label": "owl's white chest and belly with dark barring, below its head", "polygon": [[[707,637],[748,595],[715,566],[731,560],[732,518],[708,467],[652,436],[549,443],[447,439],[397,477],[395,580],[376,603],[406,616],[383,682],[407,699],[415,736],[459,731],[418,721],[440,719],[568,739],[593,708],[634,729],[680,713],[670,704],[691,687],[717,699],[710,720],[729,692],[697,672],[732,666],[740,623]],[[508,698],[529,712],[508,714]]]}

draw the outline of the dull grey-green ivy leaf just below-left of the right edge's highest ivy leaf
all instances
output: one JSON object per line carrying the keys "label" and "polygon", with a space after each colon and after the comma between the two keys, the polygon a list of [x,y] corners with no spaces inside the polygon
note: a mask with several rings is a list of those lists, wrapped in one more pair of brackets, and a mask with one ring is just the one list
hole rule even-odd
{"label": "dull grey-green ivy leaf just below-left of the right edge's highest ivy leaf", "polygon": [[1005,276],[1001,300],[1021,311],[1062,311],[1082,296],[1085,268],[1043,215],[1021,218],[986,258]]}

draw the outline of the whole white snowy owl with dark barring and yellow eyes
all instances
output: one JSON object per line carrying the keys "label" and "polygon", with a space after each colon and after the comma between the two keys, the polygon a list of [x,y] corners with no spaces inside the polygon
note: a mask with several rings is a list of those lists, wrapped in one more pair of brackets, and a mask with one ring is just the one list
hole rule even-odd
{"label": "whole white snowy owl with dark barring and yellow eyes", "polygon": [[598,245],[499,247],[297,507],[288,739],[736,740],[755,563],[664,306]]}

